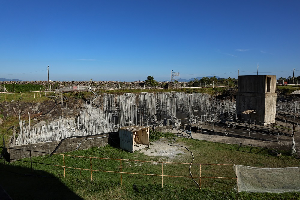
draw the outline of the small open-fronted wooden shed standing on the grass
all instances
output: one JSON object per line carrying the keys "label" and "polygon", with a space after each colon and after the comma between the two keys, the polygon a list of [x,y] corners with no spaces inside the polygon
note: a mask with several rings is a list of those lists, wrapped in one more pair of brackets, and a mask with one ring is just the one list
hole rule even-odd
{"label": "small open-fronted wooden shed standing on the grass", "polygon": [[150,146],[150,126],[126,126],[119,129],[120,147],[129,152]]}

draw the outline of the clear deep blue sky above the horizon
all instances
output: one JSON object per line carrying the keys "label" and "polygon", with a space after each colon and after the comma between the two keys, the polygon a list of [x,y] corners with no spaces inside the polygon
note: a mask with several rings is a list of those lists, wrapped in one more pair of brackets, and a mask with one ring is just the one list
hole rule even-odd
{"label": "clear deep blue sky above the horizon", "polygon": [[299,76],[299,20],[298,0],[1,0],[0,78]]}

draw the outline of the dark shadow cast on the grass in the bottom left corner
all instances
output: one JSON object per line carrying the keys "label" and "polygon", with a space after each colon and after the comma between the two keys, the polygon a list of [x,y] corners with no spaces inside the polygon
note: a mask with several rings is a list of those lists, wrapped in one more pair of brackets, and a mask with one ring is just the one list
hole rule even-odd
{"label": "dark shadow cast on the grass in the bottom left corner", "polygon": [[0,185],[12,199],[82,199],[45,171],[0,164],[0,174]]}

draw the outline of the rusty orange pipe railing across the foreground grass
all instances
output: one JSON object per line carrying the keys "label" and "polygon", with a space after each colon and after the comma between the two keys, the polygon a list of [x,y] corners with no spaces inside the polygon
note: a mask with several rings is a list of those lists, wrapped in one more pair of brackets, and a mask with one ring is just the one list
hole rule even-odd
{"label": "rusty orange pipe railing across the foreground grass", "polygon": [[[4,148],[0,147],[2,149],[13,149],[13,148]],[[22,149],[15,149],[15,150],[22,150]],[[31,152],[38,152],[38,153],[44,153],[44,154],[50,154],[46,152],[41,152],[41,151],[32,151],[32,150],[22,150],[22,151],[29,151],[29,156],[30,156],[30,161],[26,160],[16,160],[16,159],[10,159],[14,161],[21,161],[21,162],[30,162],[31,164],[31,170],[33,171],[32,164],[42,164],[42,165],[52,165],[52,164],[47,164],[47,163],[40,163],[40,162],[33,162],[32,161],[32,155]],[[59,154],[59,153],[53,153],[55,155],[62,155],[63,156],[63,165],[52,165],[56,167],[61,167],[64,169],[64,177],[66,177],[66,168],[70,169],[78,169],[78,170],[85,170],[85,171],[91,171],[91,181],[93,180],[93,171],[99,171],[99,172],[110,172],[110,173],[119,173],[120,174],[120,181],[122,185],[122,174],[138,174],[138,175],[149,175],[149,176],[161,176],[161,186],[164,187],[164,177],[182,177],[182,178],[196,178],[199,179],[199,190],[201,190],[201,178],[223,178],[223,179],[236,179],[236,177],[203,177],[201,176],[201,166],[203,165],[232,165],[233,164],[203,164],[203,163],[180,163],[180,162],[158,162],[158,161],[144,161],[144,160],[131,160],[131,159],[114,159],[114,158],[99,158],[99,157],[88,157],[88,156],[72,156],[72,155],[65,155],[65,154]],[[84,168],[76,168],[76,167],[68,167],[65,165],[65,156],[70,156],[70,157],[78,157],[78,158],[89,158],[90,160],[90,168],[89,169],[84,169]],[[3,159],[4,162],[4,168],[5,168],[5,159]],[[105,170],[95,170],[92,169],[92,159],[106,159],[106,160],[119,160],[120,161],[120,171],[105,171]],[[149,163],[161,163],[161,174],[144,174],[144,173],[133,173],[133,172],[122,172],[122,161],[136,161],[136,162],[149,162]],[[199,165],[199,176],[175,176],[175,175],[164,175],[164,164],[181,164],[181,165]]]}

